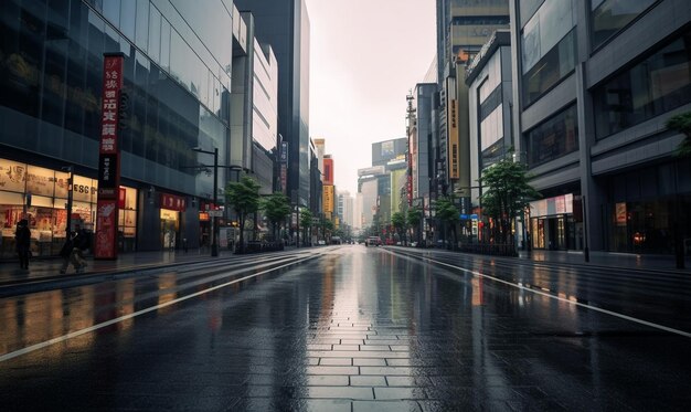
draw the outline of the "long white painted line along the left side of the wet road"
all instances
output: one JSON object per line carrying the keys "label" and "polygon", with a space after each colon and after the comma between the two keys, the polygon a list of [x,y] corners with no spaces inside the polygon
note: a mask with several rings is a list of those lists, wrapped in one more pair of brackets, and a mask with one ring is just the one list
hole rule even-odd
{"label": "long white painted line along the left side of the wet road", "polygon": [[182,296],[182,297],[179,297],[177,299],[162,303],[160,305],[151,306],[151,307],[148,307],[146,309],[141,309],[141,310],[131,313],[129,315],[125,315],[125,316],[117,317],[115,319],[106,320],[104,323],[91,326],[91,327],[82,329],[82,330],[75,330],[75,331],[70,332],[67,335],[59,336],[56,338],[49,339],[49,340],[45,340],[45,341],[40,342],[40,344],[32,345],[32,346],[28,346],[25,348],[15,350],[13,352],[4,353],[4,355],[0,356],[0,362],[4,362],[6,360],[10,360],[10,359],[20,357],[22,355],[26,355],[26,353],[33,352],[35,350],[46,348],[46,347],[49,347],[51,345],[64,342],[64,341],[66,341],[68,339],[76,338],[77,336],[82,336],[82,335],[85,335],[85,334],[91,334],[91,332],[93,332],[95,330],[103,329],[103,328],[105,328],[107,326],[110,326],[110,325],[114,325],[114,324],[117,324],[117,323],[120,323],[120,321],[124,321],[124,320],[128,320],[128,319],[131,319],[131,318],[134,318],[136,316],[148,314],[149,311],[158,310],[158,309],[164,308],[167,306],[171,306],[171,305],[178,304],[178,303],[183,302],[183,300],[191,299],[193,297],[206,294],[209,292],[213,292],[213,290],[216,290],[216,289],[230,286],[230,285],[234,285],[234,284],[240,283],[240,282],[244,282],[244,281],[251,279],[251,278],[259,276],[259,275],[264,275],[264,274],[269,273],[269,272],[275,272],[275,271],[281,270],[284,267],[293,266],[293,265],[296,265],[298,263],[302,263],[305,261],[309,261],[311,258],[315,258],[315,257],[318,257],[318,256],[321,256],[321,255],[326,254],[326,252],[328,252],[328,251],[320,252],[320,253],[318,252],[318,253],[308,255],[307,257],[300,257],[300,258],[298,258],[298,260],[296,260],[294,262],[286,263],[285,265],[280,265],[280,266],[272,267],[272,268],[268,268],[268,270],[265,270],[265,271],[262,271],[262,272],[257,272],[255,274],[247,275],[247,276],[244,276],[244,277],[231,281],[231,282],[226,282],[224,284],[210,287],[208,289],[195,292],[195,293],[193,293],[191,295]]}

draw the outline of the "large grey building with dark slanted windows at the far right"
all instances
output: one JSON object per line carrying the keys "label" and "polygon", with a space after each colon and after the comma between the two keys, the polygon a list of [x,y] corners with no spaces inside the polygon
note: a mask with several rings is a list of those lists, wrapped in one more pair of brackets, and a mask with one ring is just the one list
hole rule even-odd
{"label": "large grey building with dark slanted windows at the far right", "polygon": [[682,246],[691,160],[666,122],[691,109],[690,3],[512,0],[511,20],[512,129],[543,194],[533,247]]}

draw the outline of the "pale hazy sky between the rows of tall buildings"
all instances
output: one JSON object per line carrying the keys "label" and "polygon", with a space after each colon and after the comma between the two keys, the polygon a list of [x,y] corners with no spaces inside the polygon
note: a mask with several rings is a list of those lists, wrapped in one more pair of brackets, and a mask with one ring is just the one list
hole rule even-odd
{"label": "pale hazy sky between the rows of tall buildings", "polygon": [[337,190],[358,189],[372,144],[405,137],[405,96],[436,52],[434,0],[306,0],[309,131],[333,155]]}

